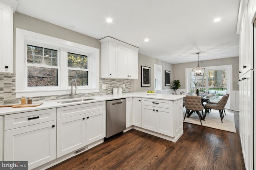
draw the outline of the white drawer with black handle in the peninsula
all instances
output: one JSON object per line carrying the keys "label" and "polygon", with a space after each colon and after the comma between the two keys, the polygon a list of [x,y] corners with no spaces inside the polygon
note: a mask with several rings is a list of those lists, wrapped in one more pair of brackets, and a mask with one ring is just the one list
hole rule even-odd
{"label": "white drawer with black handle in the peninsula", "polygon": [[142,98],[142,105],[172,109],[172,101],[171,100]]}

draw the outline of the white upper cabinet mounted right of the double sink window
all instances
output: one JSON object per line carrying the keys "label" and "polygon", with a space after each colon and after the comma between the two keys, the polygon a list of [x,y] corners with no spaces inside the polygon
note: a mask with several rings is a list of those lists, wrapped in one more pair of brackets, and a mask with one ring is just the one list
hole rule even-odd
{"label": "white upper cabinet mounted right of the double sink window", "polygon": [[100,78],[138,78],[139,48],[106,37],[101,42]]}

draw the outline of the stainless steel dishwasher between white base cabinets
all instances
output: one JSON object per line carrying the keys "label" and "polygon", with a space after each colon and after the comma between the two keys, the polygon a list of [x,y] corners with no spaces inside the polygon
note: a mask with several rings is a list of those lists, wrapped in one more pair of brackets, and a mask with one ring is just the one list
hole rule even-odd
{"label": "stainless steel dishwasher between white base cabinets", "polygon": [[106,138],[126,129],[126,99],[106,101]]}

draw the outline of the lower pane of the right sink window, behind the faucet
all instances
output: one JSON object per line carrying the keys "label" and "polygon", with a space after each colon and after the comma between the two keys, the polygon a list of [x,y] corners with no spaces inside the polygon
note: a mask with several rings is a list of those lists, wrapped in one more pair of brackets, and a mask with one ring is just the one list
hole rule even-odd
{"label": "lower pane of the right sink window, behind the faucet", "polygon": [[88,86],[88,71],[68,70],[69,86],[71,86],[72,79],[76,79],[78,86]]}

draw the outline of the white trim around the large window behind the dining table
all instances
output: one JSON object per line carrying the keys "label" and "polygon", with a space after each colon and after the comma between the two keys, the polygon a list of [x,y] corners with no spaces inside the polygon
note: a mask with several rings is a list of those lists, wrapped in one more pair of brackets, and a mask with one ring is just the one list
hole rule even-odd
{"label": "white trim around the large window behind the dining table", "polygon": [[[230,94],[233,91],[233,66],[232,65],[222,65],[222,66],[206,66],[204,67],[204,72],[212,71],[212,70],[227,70],[226,78],[227,78],[227,94]],[[190,93],[190,72],[192,72],[192,68],[185,69],[185,80],[186,80],[186,90]],[[206,74],[206,88],[208,88],[208,74]],[[231,98],[231,96],[229,97]],[[230,100],[227,102],[227,109],[230,108]]]}

